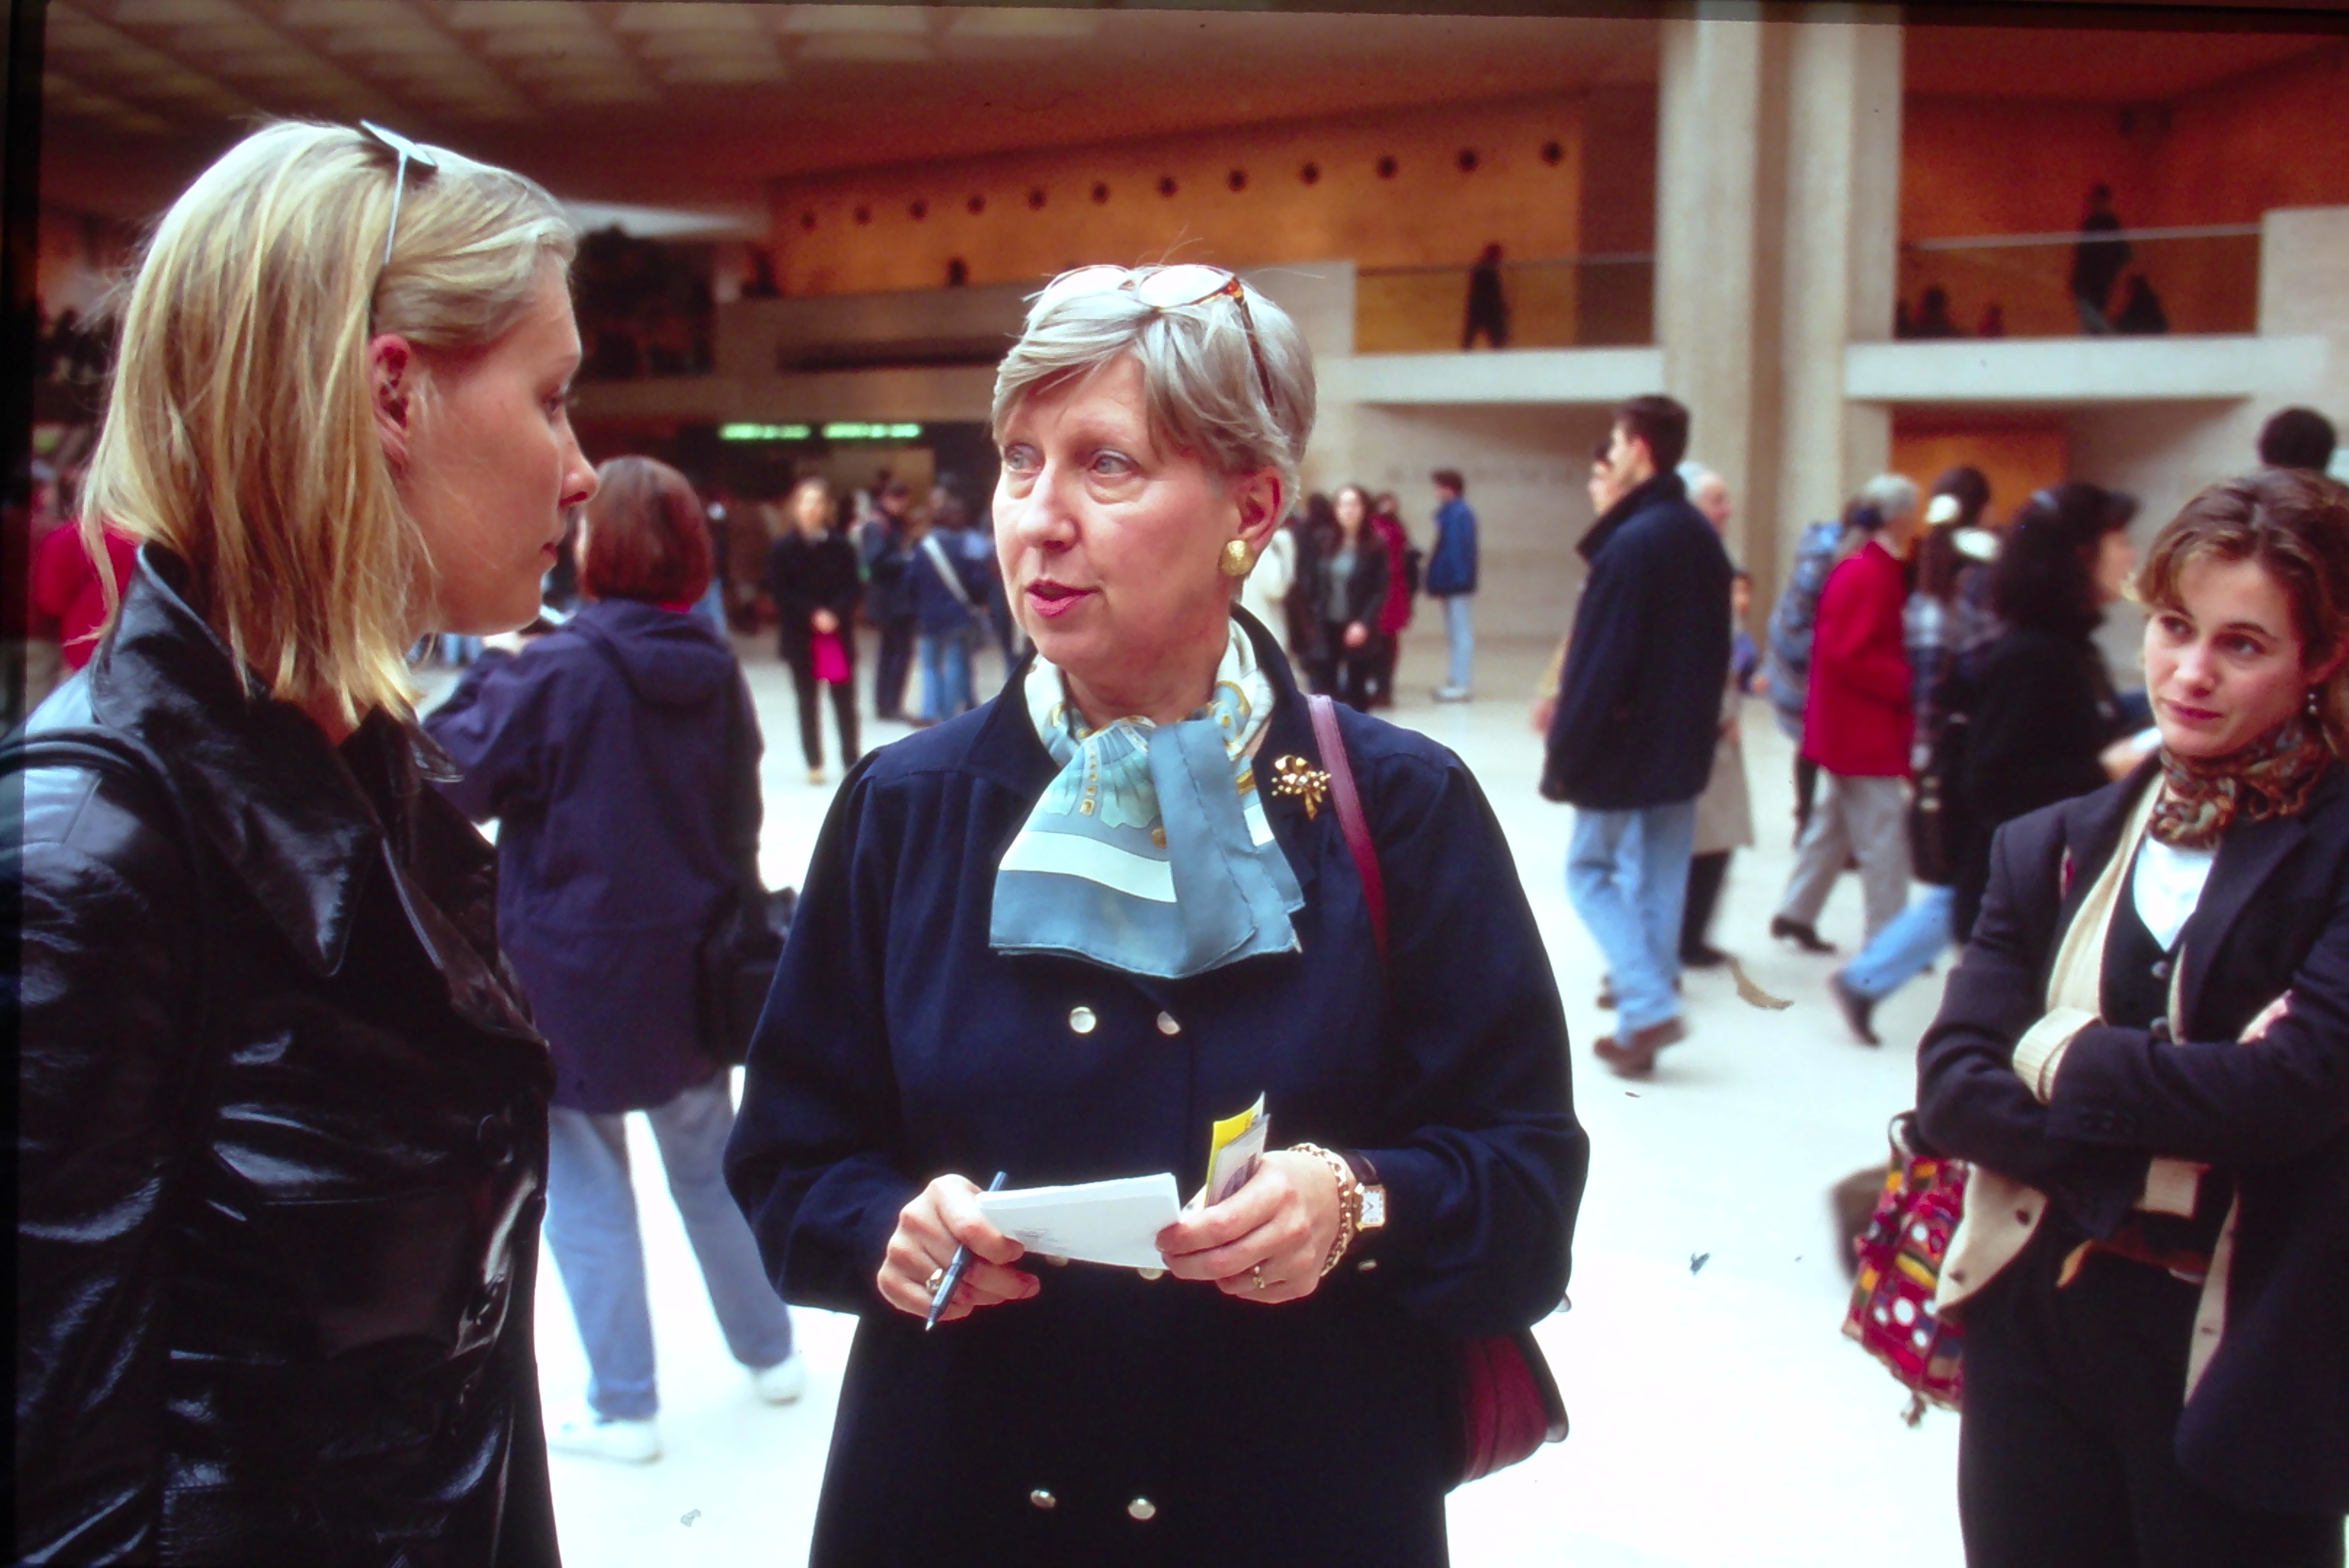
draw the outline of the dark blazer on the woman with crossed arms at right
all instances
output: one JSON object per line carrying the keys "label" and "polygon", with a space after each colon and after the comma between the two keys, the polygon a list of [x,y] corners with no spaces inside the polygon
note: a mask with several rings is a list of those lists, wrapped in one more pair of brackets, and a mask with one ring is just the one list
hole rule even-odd
{"label": "dark blazer on the woman with crossed arms at right", "polygon": [[[2182,1045],[2091,1026],[2048,1106],[2011,1066],[2156,768],[1999,831],[1973,941],[1919,1047],[1921,1129],[2091,1235],[2121,1223],[2154,1155],[2234,1171],[2227,1326],[2178,1420],[2178,1462],[2243,1507],[2349,1512],[2349,770],[2335,763],[2297,817],[2227,831],[2180,939]],[[2286,991],[2290,1014],[2239,1045]]]}

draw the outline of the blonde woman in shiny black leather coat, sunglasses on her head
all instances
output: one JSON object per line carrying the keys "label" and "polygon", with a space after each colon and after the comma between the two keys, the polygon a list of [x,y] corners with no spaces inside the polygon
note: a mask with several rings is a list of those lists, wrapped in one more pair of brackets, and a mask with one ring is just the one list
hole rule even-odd
{"label": "blonde woman in shiny black leather coat, sunglasses on her head", "polygon": [[139,568],[9,756],[21,1559],[557,1561],[554,1075],[402,650],[529,622],[594,493],[571,251],[272,124],[139,261],[82,509]]}

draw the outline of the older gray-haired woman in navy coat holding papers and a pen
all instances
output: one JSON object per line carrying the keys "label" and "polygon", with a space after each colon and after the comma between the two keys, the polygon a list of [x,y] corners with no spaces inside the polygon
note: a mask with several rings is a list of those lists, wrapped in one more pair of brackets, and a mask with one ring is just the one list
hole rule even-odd
{"label": "older gray-haired woman in navy coat holding papers and a pen", "polygon": [[[1311,425],[1212,268],[1062,275],[1003,361],[1036,653],[843,784],[728,1150],[778,1289],[864,1319],[815,1563],[1440,1563],[1461,1350],[1560,1303],[1588,1145],[1501,831],[1419,735],[1325,749],[1233,608]],[[1038,1268],[970,1181],[1200,1190],[1259,1096],[1292,1145],[1153,1268]]]}

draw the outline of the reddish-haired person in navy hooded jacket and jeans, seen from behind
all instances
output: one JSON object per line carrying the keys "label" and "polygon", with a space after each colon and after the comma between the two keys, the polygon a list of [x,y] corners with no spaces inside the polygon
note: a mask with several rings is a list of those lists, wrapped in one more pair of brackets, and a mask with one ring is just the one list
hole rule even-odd
{"label": "reddish-haired person in navy hooded jacket and jeans, seen from behind", "polygon": [[425,718],[498,819],[498,937],[554,1049],[547,1246],[587,1350],[587,1411],[547,1446],[660,1458],[653,1324],[625,1122],[644,1110],[726,1347],[770,1404],[796,1399],[792,1319],[721,1160],[723,1066],[700,1040],[695,953],[759,854],[759,721],[693,603],[709,528],[677,469],[613,458],[580,521],[585,603],[519,655],[484,657]]}

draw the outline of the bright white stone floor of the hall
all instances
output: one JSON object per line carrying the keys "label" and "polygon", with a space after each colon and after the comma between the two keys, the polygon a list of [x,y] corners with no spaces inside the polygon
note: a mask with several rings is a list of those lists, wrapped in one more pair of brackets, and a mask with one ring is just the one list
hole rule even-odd
{"label": "bright white stone floor of the hall", "polygon": [[[799,883],[832,791],[806,782],[789,676],[770,643],[740,648],[768,737],[766,876]],[[1564,897],[1571,812],[1534,793],[1541,746],[1525,695],[1546,653],[1485,648],[1480,699],[1438,707],[1428,685],[1440,638],[1414,641],[1393,714],[1468,758],[1508,831],[1567,1000],[1576,1108],[1593,1145],[1574,1307],[1539,1329],[1574,1434],[1461,1488],[1452,1556],[1466,1568],[1957,1566],[1957,1418],[1936,1411],[1905,1427],[1905,1392],[1839,1336],[1846,1282],[1828,1211],[1828,1185],[1882,1167],[1884,1122],[1912,1103],[1914,1040],[1938,974],[1879,1009],[1886,1045],[1867,1049],[1825,998],[1832,960],[1766,941],[1792,861],[1792,786],[1788,746],[1757,702],[1745,761],[1762,843],[1731,866],[1715,941],[1795,1005],[1762,1012],[1736,998],[1727,974],[1691,974],[1694,1038],[1663,1056],[1654,1080],[1626,1084],[1597,1066],[1588,1042],[1611,1019],[1593,1007],[1602,965]],[[996,676],[989,657],[982,690]],[[897,735],[879,725],[869,739]],[[1849,951],[1858,922],[1846,878],[1820,930]],[[719,1340],[641,1117],[630,1148],[667,1455],[641,1469],[557,1455],[564,1561],[801,1563],[855,1324],[794,1312],[808,1397],[761,1406]],[[578,1401],[587,1373],[552,1268],[538,1293],[538,1350],[547,1408]]]}

